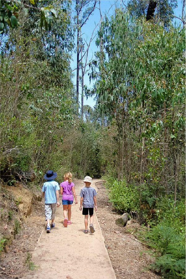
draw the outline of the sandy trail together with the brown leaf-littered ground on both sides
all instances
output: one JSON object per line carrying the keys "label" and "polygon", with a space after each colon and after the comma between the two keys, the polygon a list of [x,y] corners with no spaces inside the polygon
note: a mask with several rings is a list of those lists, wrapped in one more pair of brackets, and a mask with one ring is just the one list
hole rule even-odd
{"label": "sandy trail together with the brown leaf-littered ground on both sides", "polygon": [[[115,224],[120,215],[108,201],[100,180],[94,179],[92,183],[98,189],[98,211],[94,213],[95,233],[91,234],[90,230],[88,234],[83,233],[84,217],[79,210],[79,192],[84,183],[82,180],[73,182],[78,204],[72,206],[72,225],[67,228],[63,226],[61,204],[56,211],[56,226],[47,234],[44,229],[44,200],[36,201],[30,217],[22,223],[17,240],[3,254],[0,278],[159,279],[157,274],[146,270],[153,259],[144,253],[148,252],[147,247],[136,241],[133,235],[140,227],[138,222],[131,220],[125,227]],[[28,270],[28,264],[25,264],[28,254],[32,256],[31,261],[38,265],[38,270]]]}

